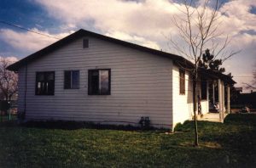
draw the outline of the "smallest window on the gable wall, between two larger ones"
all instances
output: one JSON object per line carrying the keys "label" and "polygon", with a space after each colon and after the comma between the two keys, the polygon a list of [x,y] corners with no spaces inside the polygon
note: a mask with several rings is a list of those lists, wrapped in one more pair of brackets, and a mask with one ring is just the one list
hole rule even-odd
{"label": "smallest window on the gable wall, between two larger ones", "polygon": [[79,88],[79,70],[64,71],[64,89]]}

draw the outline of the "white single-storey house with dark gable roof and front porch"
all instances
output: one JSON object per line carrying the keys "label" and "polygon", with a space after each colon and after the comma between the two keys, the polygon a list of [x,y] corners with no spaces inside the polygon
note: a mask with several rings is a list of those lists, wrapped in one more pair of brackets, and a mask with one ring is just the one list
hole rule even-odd
{"label": "white single-storey house with dark gable roof and front porch", "polygon": [[[184,69],[191,65],[171,53],[80,30],[8,70],[19,73],[18,111],[26,120],[137,126],[149,117],[152,126],[172,129],[193,115],[192,81]],[[224,82],[233,81],[207,70],[201,76],[197,93],[207,113],[210,81],[218,80],[220,99]]]}

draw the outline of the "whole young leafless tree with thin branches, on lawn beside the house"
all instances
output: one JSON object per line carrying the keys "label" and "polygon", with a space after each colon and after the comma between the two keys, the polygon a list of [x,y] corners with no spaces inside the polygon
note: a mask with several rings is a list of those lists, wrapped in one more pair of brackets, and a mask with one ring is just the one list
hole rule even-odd
{"label": "whole young leafless tree with thin branches, on lawn beside the house", "polygon": [[[224,36],[223,32],[219,31],[220,17],[219,8],[221,7],[218,0],[215,3],[210,0],[201,1],[185,0],[183,5],[178,7],[182,16],[174,16],[172,23],[178,31],[177,38],[170,38],[172,48],[193,64],[193,68],[183,67],[191,72],[193,78],[193,106],[195,119],[195,146],[198,146],[197,132],[197,115],[196,115],[196,83],[198,81],[199,63],[202,59],[202,54],[209,48],[214,55],[214,59],[222,59],[224,62],[238,52],[227,52],[225,49],[230,43],[229,36]],[[224,40],[221,41],[221,38]],[[183,45],[180,44],[183,42]]]}

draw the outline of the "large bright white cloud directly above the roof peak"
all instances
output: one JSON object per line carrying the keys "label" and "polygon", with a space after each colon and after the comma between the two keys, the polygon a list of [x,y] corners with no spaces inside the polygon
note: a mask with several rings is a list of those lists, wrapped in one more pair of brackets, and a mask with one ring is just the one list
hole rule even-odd
{"label": "large bright white cloud directly above the roof peak", "polygon": [[[103,33],[119,31],[130,35],[159,37],[170,31],[172,14],[179,13],[168,0],[135,1],[73,1],[37,0],[49,14],[65,24],[94,27]],[[176,4],[177,5],[177,4]]]}

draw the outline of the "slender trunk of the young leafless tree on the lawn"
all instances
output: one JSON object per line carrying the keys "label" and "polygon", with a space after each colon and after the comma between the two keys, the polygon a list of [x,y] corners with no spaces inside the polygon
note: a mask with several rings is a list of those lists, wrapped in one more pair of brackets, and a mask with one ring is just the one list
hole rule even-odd
{"label": "slender trunk of the young leafless tree on the lawn", "polygon": [[194,108],[194,126],[195,126],[195,146],[199,146],[198,143],[198,132],[197,132],[197,114],[196,114],[196,80],[197,79],[197,71],[193,76],[193,108]]}

